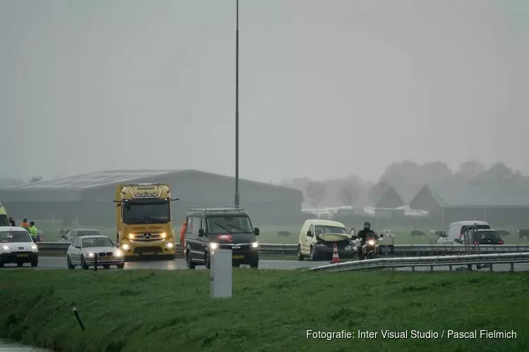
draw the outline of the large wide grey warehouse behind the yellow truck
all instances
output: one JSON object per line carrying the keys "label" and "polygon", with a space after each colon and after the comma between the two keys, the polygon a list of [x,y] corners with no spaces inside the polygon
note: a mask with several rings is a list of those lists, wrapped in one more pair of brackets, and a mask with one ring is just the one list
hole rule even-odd
{"label": "large wide grey warehouse behind the yellow truck", "polygon": [[[117,184],[163,182],[171,185],[174,219],[183,219],[187,206],[233,204],[235,179],[198,170],[116,170],[23,184],[0,189],[0,200],[13,218],[59,220],[65,225],[114,224]],[[297,189],[239,180],[241,206],[254,222],[296,221],[303,193]]]}

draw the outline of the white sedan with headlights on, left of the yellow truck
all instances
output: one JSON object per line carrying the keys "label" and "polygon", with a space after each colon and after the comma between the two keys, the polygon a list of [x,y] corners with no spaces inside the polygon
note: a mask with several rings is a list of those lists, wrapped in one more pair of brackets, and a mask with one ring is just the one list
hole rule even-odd
{"label": "white sedan with headlights on, left of the yellow truck", "polygon": [[118,269],[123,269],[125,266],[121,249],[118,249],[109,237],[102,234],[78,237],[68,247],[66,255],[68,269],[75,269],[79,265],[86,270],[93,267],[96,260],[97,266],[105,269],[110,268],[110,265],[116,265]]}

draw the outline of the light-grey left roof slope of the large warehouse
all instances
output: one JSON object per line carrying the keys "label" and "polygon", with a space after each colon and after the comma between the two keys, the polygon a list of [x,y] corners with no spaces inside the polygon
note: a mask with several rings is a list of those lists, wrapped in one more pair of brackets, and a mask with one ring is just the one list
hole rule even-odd
{"label": "light-grey left roof slope of the large warehouse", "polygon": [[128,182],[139,180],[147,177],[166,175],[179,170],[114,170],[94,172],[86,175],[65,177],[51,181],[41,181],[20,186],[10,187],[8,189],[86,189],[92,187],[105,186],[107,184],[116,184],[119,182]]}

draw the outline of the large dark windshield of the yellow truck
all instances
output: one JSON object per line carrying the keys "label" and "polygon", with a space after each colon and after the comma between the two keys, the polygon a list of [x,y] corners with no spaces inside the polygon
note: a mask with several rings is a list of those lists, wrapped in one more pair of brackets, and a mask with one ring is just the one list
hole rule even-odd
{"label": "large dark windshield of the yellow truck", "polygon": [[123,222],[128,225],[165,224],[171,221],[169,201],[131,201],[123,206]]}

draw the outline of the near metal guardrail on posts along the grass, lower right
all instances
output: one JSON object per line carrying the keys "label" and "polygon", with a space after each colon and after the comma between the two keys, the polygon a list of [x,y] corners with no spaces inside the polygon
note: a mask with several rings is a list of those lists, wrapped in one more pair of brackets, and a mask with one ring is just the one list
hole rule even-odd
{"label": "near metal guardrail on posts along the grass, lower right", "polygon": [[494,253],[494,254],[468,254],[462,256],[429,256],[429,257],[408,257],[408,258],[377,258],[366,260],[354,260],[344,263],[322,265],[310,270],[340,272],[360,269],[384,269],[384,268],[412,268],[429,266],[434,270],[436,266],[448,266],[452,271],[454,265],[466,265],[468,270],[472,270],[473,265],[478,267],[488,266],[493,270],[494,264],[511,264],[511,271],[514,271],[515,263],[529,263],[529,252],[523,253]]}

